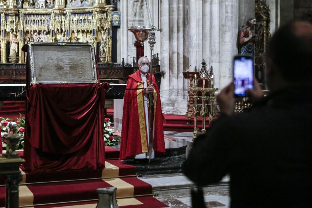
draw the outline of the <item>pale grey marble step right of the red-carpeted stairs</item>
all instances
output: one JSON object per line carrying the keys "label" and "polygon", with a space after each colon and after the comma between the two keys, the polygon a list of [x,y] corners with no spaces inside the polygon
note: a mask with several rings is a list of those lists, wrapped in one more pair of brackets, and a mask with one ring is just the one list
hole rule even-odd
{"label": "pale grey marble step right of the red-carpeted stairs", "polygon": [[[190,193],[191,189],[196,187],[194,183],[182,173],[145,176],[140,177],[140,179],[152,185],[154,196]],[[217,184],[204,186],[203,191],[228,190],[229,180],[229,176],[226,176]]]}

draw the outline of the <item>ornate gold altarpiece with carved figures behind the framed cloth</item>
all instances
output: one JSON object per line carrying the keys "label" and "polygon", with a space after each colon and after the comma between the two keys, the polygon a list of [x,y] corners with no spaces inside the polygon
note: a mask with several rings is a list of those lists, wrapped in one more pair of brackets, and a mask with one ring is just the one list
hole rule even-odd
{"label": "ornate gold altarpiece with carved figures behind the framed cloth", "polygon": [[0,62],[25,63],[29,41],[91,42],[100,62],[111,62],[113,10],[105,0],[0,0]]}

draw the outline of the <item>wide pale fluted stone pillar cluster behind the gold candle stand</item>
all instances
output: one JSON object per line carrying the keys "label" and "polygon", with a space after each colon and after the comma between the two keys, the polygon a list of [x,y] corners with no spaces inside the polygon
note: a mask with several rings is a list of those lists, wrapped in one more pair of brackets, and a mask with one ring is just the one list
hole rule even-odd
{"label": "wide pale fluted stone pillar cluster behind the gold candle stand", "polygon": [[186,113],[188,87],[182,72],[189,65],[193,71],[205,59],[220,89],[232,81],[238,10],[239,0],[161,2],[160,60],[166,72],[161,84],[163,113]]}

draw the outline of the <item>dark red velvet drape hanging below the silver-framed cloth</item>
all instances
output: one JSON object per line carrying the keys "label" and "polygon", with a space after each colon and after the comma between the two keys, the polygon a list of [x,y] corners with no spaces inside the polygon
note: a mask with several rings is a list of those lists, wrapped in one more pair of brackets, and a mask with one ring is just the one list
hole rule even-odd
{"label": "dark red velvet drape hanging below the silver-framed cloth", "polygon": [[26,90],[24,169],[102,168],[108,83],[37,84]]}

